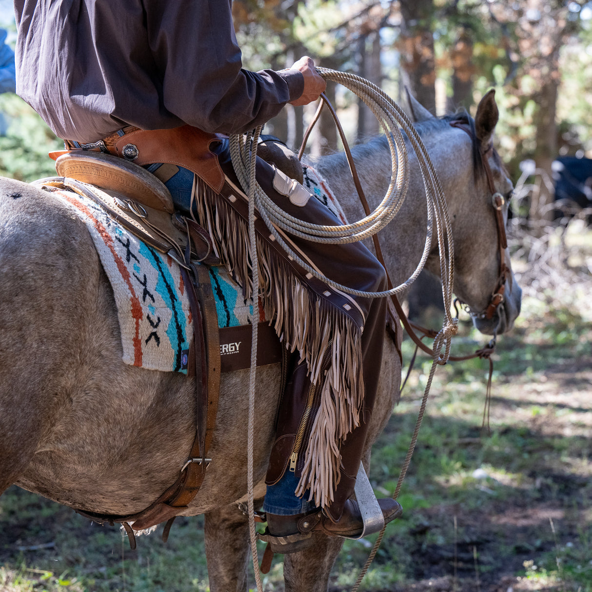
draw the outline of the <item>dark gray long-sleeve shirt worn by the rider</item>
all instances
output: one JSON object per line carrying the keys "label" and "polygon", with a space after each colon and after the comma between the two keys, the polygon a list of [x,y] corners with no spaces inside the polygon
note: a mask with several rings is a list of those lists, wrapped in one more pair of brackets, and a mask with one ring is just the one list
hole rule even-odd
{"label": "dark gray long-sleeve shirt worn by the rider", "polygon": [[242,69],[231,0],[15,0],[17,94],[57,136],[132,125],[238,133],[304,88],[297,70]]}

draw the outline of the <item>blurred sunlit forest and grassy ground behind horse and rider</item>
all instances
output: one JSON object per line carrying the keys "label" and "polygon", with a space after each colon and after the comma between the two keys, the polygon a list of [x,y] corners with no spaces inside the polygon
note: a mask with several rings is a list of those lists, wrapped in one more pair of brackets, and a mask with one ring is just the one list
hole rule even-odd
{"label": "blurred sunlit forest and grassy ground behind horse and rider", "polygon": [[[406,513],[387,530],[362,589],[592,591],[592,2],[234,0],[233,12],[252,70],[308,54],[369,79],[403,108],[407,86],[436,115],[474,115],[496,89],[524,298],[494,356],[491,433],[481,429],[487,363],[441,368],[401,491]],[[14,47],[8,0],[0,27]],[[327,94],[351,143],[379,133],[355,96],[332,85]],[[288,106],[265,131],[297,149],[314,109]],[[0,175],[53,175],[47,152],[60,140],[9,90],[0,113]],[[308,147],[340,149],[329,118]],[[437,281],[420,286],[411,312],[437,329]],[[461,316],[453,353],[483,342]],[[404,362],[412,355],[406,340]],[[381,495],[394,490],[429,366],[416,364],[375,446],[371,480]],[[178,520],[167,545],[152,536],[131,552],[117,529],[12,487],[0,498],[0,592],[207,591],[201,525],[201,517]],[[351,587],[368,545],[346,542],[332,592]],[[283,590],[281,578],[276,559],[266,590]]]}

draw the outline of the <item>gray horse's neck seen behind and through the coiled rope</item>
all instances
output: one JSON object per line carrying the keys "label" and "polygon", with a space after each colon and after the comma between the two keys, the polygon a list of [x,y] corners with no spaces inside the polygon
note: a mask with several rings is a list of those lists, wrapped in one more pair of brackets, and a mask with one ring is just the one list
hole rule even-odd
{"label": "gray horse's neck seen behind and through the coiled rope", "polygon": [[[459,198],[459,185],[465,185],[471,171],[471,157],[464,134],[452,128],[436,129],[423,137],[449,204]],[[371,208],[384,198],[391,181],[391,154],[387,141],[376,138],[352,150],[356,169]],[[409,188],[403,207],[388,227],[379,233],[382,252],[392,281],[400,283],[411,275],[419,262],[427,228],[426,192],[419,163],[408,145]],[[318,172],[327,178],[334,195],[349,222],[359,220],[364,213],[353,185],[345,155],[324,157],[314,163]],[[466,188],[464,189],[466,192]],[[372,247],[370,247],[372,248]]]}

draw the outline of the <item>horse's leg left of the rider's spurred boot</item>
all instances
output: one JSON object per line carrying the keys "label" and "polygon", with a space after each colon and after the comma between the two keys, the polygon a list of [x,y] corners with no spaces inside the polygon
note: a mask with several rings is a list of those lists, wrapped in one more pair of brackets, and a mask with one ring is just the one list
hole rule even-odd
{"label": "horse's leg left of the rider's spurred boot", "polygon": [[[263,500],[255,501],[255,507]],[[211,592],[244,592],[250,561],[249,517],[237,504],[205,513],[205,556]]]}

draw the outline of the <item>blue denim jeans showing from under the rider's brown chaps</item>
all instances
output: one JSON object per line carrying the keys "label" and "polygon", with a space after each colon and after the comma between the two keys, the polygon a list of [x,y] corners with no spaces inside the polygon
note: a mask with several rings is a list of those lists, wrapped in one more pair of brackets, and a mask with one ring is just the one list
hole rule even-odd
{"label": "blue denim jeans showing from under the rider's brown chaps", "polygon": [[[214,144],[212,151],[220,152],[220,156],[224,158],[223,153],[226,148],[227,143],[221,142],[219,145]],[[162,166],[160,163],[155,163],[146,166],[146,169],[153,173],[160,166]],[[193,187],[193,173],[191,170],[179,167],[178,172],[166,181],[165,185],[170,191],[175,208],[181,212],[188,212],[189,207],[191,207],[191,189]],[[314,502],[307,501],[308,491],[303,497],[296,497],[294,492],[297,485],[298,477],[293,472],[286,470],[284,477],[275,485],[268,485],[263,510],[280,516],[293,516],[294,514],[315,510],[317,506]]]}

